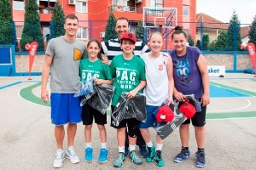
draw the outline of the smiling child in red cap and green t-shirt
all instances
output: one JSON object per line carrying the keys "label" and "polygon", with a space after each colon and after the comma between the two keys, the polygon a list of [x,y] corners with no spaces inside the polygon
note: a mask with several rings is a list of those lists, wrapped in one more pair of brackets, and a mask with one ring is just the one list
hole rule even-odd
{"label": "smiling child in red cap and green t-shirt", "polygon": [[[114,78],[113,86],[115,91],[112,100],[112,112],[116,107],[119,96],[126,94],[128,98],[134,98],[137,93],[142,93],[142,89],[146,86],[145,63],[143,59],[133,54],[135,48],[136,36],[131,32],[125,32],[120,38],[120,45],[124,54],[117,55],[113,58],[110,68]],[[140,121],[136,118],[124,119],[119,123],[119,126],[113,124],[111,126],[117,128],[117,139],[119,147],[119,156],[114,160],[113,167],[121,167],[125,160],[125,129],[128,127],[128,132],[137,132],[140,127]],[[132,131],[129,129],[133,129]],[[136,148],[136,133],[129,133],[129,156],[136,164],[142,164],[142,160],[135,152]]]}

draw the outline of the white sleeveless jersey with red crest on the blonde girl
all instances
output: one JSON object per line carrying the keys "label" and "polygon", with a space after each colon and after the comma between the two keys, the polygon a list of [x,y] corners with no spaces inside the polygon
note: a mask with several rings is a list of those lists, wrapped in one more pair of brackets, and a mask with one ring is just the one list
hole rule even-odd
{"label": "white sleeveless jersey with red crest on the blonde girl", "polygon": [[167,62],[169,54],[160,53],[158,58],[151,58],[149,53],[140,57],[145,62],[147,86],[144,88],[147,105],[159,106],[169,99]]}

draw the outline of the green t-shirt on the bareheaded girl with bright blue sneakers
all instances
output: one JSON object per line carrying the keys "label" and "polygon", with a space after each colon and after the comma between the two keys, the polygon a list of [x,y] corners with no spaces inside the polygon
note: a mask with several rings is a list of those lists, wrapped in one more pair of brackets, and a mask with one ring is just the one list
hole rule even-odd
{"label": "green t-shirt on the bareheaded girl with bright blue sneakers", "polygon": [[91,62],[89,58],[81,59],[80,62],[81,81],[88,81],[91,78],[111,80],[110,67],[102,63],[101,59]]}

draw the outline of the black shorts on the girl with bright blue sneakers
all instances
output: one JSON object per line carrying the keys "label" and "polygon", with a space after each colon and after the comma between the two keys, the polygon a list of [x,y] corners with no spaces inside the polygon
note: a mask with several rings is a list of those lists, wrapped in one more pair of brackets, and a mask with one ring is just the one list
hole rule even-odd
{"label": "black shorts on the girl with bright blue sneakers", "polygon": [[93,122],[98,125],[105,125],[107,124],[107,113],[103,115],[100,111],[95,110],[90,105],[83,105],[82,107],[82,120],[83,125],[91,125]]}

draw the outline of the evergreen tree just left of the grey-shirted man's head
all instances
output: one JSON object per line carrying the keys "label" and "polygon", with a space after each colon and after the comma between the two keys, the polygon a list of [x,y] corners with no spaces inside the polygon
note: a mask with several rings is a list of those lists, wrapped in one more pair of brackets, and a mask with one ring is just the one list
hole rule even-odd
{"label": "evergreen tree just left of the grey-shirted man's head", "polygon": [[65,14],[59,1],[56,1],[49,24],[50,38],[63,36],[65,34],[64,24]]}

